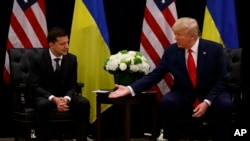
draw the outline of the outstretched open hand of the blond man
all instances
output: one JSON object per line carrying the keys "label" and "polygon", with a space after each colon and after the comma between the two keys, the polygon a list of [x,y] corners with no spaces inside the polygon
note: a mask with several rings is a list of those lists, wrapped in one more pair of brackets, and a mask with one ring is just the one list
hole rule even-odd
{"label": "outstretched open hand of the blond man", "polygon": [[109,94],[109,98],[119,98],[131,93],[127,86],[115,84],[115,88],[116,90]]}

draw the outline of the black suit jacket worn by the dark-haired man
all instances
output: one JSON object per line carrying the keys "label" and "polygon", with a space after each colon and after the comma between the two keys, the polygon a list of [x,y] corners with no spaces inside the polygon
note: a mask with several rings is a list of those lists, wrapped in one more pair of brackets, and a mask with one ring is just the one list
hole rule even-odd
{"label": "black suit jacket worn by the dark-haired man", "polygon": [[77,85],[77,59],[68,53],[61,63],[61,80],[56,87],[55,74],[48,49],[44,49],[32,60],[30,69],[30,84],[35,96],[48,98],[50,95],[72,97]]}

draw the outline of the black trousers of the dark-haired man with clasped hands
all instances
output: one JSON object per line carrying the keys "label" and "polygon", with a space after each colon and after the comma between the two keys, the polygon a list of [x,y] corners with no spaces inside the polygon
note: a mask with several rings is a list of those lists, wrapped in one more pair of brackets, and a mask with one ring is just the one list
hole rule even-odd
{"label": "black trousers of the dark-haired man with clasped hands", "polygon": [[[90,114],[89,101],[82,96],[74,96],[68,105],[75,116],[76,139],[77,141],[86,141]],[[47,98],[35,98],[36,135],[38,140],[49,140],[49,113],[51,109],[56,109],[56,105]]]}

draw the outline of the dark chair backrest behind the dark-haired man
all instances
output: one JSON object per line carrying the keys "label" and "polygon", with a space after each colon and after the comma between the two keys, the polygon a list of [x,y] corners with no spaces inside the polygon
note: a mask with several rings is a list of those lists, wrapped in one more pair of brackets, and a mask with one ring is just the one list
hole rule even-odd
{"label": "dark chair backrest behind the dark-haired man", "polygon": [[[13,106],[20,108],[20,104],[31,105],[32,95],[28,89],[30,61],[42,53],[45,48],[11,48],[9,49],[10,80],[13,86]],[[20,92],[22,91],[22,92]],[[20,103],[21,102],[21,103]]]}

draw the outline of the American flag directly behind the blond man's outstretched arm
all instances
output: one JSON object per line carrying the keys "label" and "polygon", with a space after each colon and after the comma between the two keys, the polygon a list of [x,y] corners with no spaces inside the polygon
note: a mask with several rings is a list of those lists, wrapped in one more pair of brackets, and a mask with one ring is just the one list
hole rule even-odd
{"label": "American flag directly behind the blond man's outstretched arm", "polygon": [[[149,60],[151,69],[159,63],[164,49],[175,42],[171,29],[177,19],[174,0],[147,0],[141,34],[140,52]],[[158,92],[158,99],[166,94],[173,83],[171,74],[153,86]]]}

